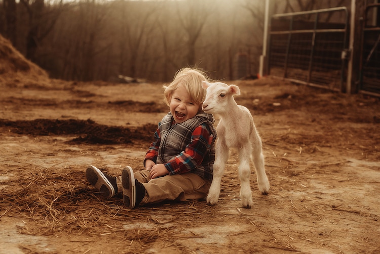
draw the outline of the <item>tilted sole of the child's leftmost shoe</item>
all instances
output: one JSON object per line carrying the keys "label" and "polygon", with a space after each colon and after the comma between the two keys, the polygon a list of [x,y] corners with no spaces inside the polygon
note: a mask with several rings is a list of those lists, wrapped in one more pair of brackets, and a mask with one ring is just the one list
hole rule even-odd
{"label": "tilted sole of the child's leftmost shoe", "polygon": [[96,167],[90,165],[86,169],[87,181],[101,192],[106,198],[110,198],[115,195],[115,190],[112,184],[104,176],[104,174]]}

